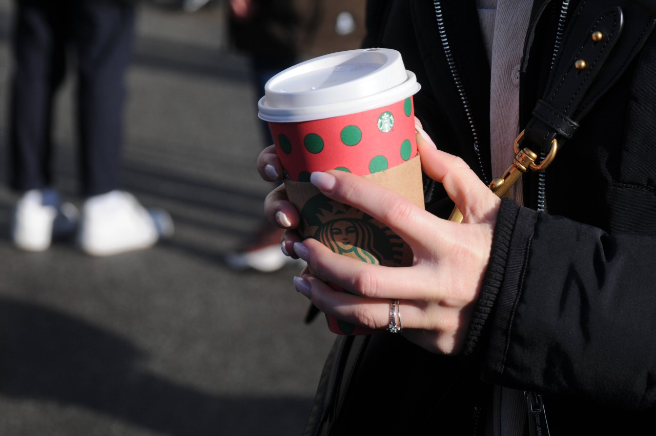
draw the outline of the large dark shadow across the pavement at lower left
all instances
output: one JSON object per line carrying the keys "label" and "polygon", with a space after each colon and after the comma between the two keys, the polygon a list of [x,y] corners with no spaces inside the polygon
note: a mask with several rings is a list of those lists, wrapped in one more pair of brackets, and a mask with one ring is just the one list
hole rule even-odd
{"label": "large dark shadow across the pavement at lower left", "polygon": [[277,428],[288,434],[309,412],[305,398],[223,397],[164,380],[140,366],[148,356],[125,338],[12,299],[0,298],[0,349],[0,395],[80,406],[167,435],[282,435]]}

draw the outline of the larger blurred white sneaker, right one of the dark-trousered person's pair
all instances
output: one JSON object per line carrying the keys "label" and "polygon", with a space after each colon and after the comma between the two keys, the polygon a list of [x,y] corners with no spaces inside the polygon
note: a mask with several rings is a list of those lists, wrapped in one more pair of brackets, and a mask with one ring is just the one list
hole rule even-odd
{"label": "larger blurred white sneaker, right one of the dark-trousered person's pair", "polygon": [[172,234],[169,213],[148,211],[132,194],[113,190],[85,201],[77,243],[87,254],[108,256],[150,248]]}

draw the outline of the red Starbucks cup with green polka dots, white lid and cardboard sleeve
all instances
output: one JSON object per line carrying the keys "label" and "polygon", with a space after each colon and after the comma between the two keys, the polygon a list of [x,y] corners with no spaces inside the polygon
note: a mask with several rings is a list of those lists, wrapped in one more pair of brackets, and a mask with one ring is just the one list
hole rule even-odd
{"label": "red Starbucks cup with green polka dots, white lid and cardboard sleeve", "polygon": [[[400,53],[363,49],[320,56],[272,77],[264,91],[258,116],[268,121],[276,142],[301,236],[363,262],[411,265],[409,246],[384,223],[308,183],[313,171],[338,169],[424,206],[412,97],[419,83]],[[337,334],[373,332],[327,319]]]}

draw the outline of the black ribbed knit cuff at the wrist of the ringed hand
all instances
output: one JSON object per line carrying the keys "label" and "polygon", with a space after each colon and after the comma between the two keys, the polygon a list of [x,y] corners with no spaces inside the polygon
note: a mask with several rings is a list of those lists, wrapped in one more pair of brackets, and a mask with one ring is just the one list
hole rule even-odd
{"label": "black ribbed knit cuff at the wrist of the ringed hand", "polygon": [[497,214],[490,259],[487,264],[480,295],[474,308],[472,320],[466,338],[464,355],[472,355],[476,345],[483,340],[487,328],[485,324],[497,301],[497,295],[501,289],[503,275],[506,270],[508,250],[510,249],[510,238],[514,228],[519,206],[510,198],[502,198],[501,207]]}

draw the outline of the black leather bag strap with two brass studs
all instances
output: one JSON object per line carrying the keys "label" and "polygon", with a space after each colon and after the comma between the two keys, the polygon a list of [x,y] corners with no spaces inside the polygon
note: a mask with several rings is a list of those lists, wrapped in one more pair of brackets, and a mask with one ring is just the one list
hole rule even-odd
{"label": "black leather bag strap with two brass studs", "polygon": [[634,1],[582,0],[569,21],[544,96],[524,141],[548,152],[571,139],[579,122],[624,72],[653,31],[653,11]]}

